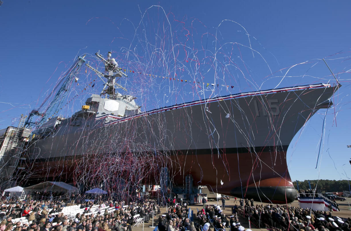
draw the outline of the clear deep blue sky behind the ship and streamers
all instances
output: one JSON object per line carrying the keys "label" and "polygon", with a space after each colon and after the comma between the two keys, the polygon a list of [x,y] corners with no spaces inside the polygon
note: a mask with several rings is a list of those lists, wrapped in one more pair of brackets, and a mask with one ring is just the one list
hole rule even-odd
{"label": "clear deep blue sky behind the ship and streamers", "polygon": [[[152,5],[162,6],[167,17]],[[229,91],[206,88],[206,96],[274,88],[279,83],[279,87],[327,83],[333,77],[320,62],[325,58],[339,73],[343,87],[334,98],[335,109],[326,116],[320,169],[315,166],[325,111],[319,111],[294,138],[287,161],[293,180],[348,179],[350,7],[350,1],[4,0],[0,7],[0,128],[16,125],[20,114],[38,107],[78,54],[87,53],[96,66],[95,52],[112,51],[121,67],[235,86]],[[220,73],[228,60],[237,67]],[[282,77],[289,67],[305,61],[309,62]],[[83,74],[75,93],[95,77]],[[190,84],[161,79],[151,84],[139,78],[131,74],[123,84],[139,97],[144,110],[200,97],[199,89]],[[98,90],[91,88],[91,92]],[[63,114],[74,113],[86,96],[79,94]]]}

